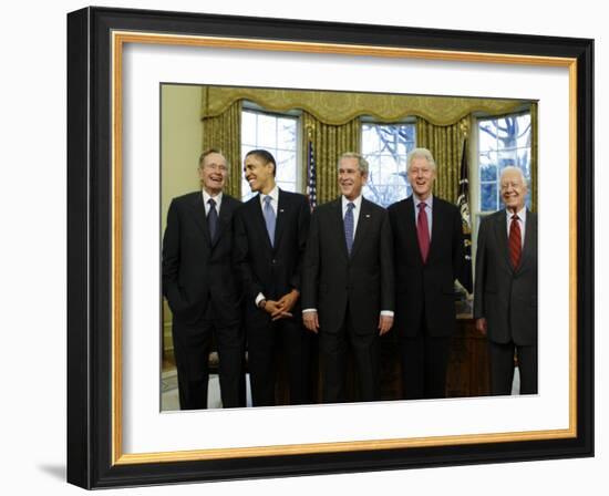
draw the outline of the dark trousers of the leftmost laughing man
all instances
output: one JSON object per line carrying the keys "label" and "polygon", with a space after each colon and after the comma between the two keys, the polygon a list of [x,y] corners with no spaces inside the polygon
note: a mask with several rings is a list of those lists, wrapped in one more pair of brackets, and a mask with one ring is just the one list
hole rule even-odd
{"label": "dark trousers of the leftmost laughing man", "polygon": [[210,302],[205,317],[194,324],[174,317],[172,333],[180,410],[207,409],[213,334],[218,347],[223,407],[245,406],[244,335],[238,316],[229,321],[220,319]]}

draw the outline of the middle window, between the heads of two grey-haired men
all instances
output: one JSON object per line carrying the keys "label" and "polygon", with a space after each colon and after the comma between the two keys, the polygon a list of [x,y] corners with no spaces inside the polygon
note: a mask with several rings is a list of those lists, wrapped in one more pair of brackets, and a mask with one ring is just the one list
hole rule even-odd
{"label": "middle window, between the heads of two grey-haired men", "polygon": [[370,164],[363,195],[388,207],[411,194],[406,156],[415,146],[414,124],[362,124],[362,155]]}

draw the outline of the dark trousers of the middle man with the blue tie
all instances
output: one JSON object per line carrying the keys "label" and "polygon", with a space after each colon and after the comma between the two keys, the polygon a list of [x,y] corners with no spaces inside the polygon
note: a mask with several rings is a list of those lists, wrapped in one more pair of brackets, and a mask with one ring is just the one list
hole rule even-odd
{"label": "dark trousers of the middle man with the blue tie", "polygon": [[347,401],[347,353],[349,345],[359,376],[362,401],[378,401],[381,397],[379,379],[379,331],[355,334],[351,324],[349,307],[342,327],[338,332],[319,333],[319,350],[322,363],[322,400],[324,403]]}

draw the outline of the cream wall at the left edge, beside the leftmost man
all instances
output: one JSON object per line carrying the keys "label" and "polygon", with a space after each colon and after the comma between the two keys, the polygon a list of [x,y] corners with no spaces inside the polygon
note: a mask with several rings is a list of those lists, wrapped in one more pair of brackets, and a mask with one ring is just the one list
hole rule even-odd
{"label": "cream wall at the left edge, beside the leftmost man", "polygon": [[[161,89],[161,228],[165,232],[172,198],[199,188],[198,157],[203,146],[200,86]],[[171,311],[163,303],[163,348],[173,348]]]}

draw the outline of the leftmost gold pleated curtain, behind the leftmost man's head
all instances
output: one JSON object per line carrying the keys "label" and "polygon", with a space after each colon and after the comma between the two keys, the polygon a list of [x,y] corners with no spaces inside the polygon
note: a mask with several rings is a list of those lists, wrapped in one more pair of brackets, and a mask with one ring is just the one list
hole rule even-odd
{"label": "leftmost gold pleated curtain, behind the leftmost man's head", "polygon": [[[205,93],[205,90],[204,90]],[[203,149],[219,148],[228,161],[225,192],[241,197],[241,102],[234,102],[221,114],[203,118]]]}

